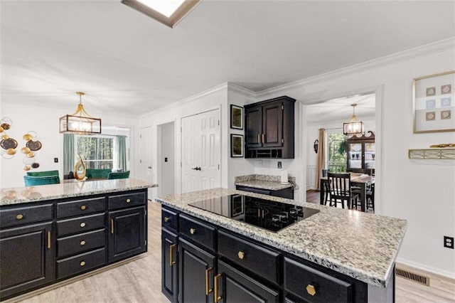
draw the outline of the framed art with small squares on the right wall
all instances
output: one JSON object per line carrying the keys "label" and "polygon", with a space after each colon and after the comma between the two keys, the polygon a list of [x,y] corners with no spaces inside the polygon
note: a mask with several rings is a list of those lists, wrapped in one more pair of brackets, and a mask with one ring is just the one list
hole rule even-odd
{"label": "framed art with small squares on the right wall", "polygon": [[455,70],[412,80],[413,132],[455,132]]}

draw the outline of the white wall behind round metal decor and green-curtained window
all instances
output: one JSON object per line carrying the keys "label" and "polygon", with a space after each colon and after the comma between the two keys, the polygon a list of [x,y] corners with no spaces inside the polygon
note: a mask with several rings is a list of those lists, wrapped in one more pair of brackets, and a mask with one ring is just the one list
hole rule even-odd
{"label": "white wall behind round metal decor and green-curtained window", "polygon": [[[1,100],[0,117],[9,117],[13,124],[11,129],[7,131],[10,137],[16,139],[18,148],[16,155],[12,159],[4,159],[0,157],[0,188],[19,187],[23,186],[23,176],[26,172],[23,170],[23,154],[21,147],[25,141],[22,139],[26,132],[34,131],[38,134],[38,139],[43,144],[43,147],[36,151],[36,161],[40,164],[36,171],[48,171],[58,169],[60,171],[60,179],[63,179],[63,135],[58,131],[58,119],[68,112],[73,112],[74,108],[43,108],[38,105],[21,105],[6,102]],[[89,110],[90,112],[90,110]],[[109,115],[107,113],[90,112],[93,117],[102,119],[102,126],[117,126],[127,127],[130,129],[132,138],[130,139],[130,170],[131,176],[135,177],[137,170],[137,161],[134,161],[134,133],[136,123],[134,117],[119,117]],[[112,131],[109,131],[112,133]],[[54,163],[54,158],[58,158],[58,163]]]}

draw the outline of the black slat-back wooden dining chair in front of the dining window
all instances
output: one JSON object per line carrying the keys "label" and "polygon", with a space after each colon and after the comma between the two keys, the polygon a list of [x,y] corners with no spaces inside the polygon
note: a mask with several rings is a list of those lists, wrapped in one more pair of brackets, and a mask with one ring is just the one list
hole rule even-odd
{"label": "black slat-back wooden dining chair in front of the dining window", "polygon": [[327,173],[328,186],[330,186],[330,206],[337,206],[337,203],[341,203],[341,207],[346,206],[351,208],[353,205],[358,204],[357,193],[352,193],[350,190],[350,174],[334,174],[331,172]]}

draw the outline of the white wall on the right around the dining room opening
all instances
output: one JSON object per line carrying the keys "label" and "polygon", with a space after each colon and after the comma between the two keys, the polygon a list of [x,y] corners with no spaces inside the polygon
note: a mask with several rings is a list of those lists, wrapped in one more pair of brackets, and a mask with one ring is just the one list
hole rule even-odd
{"label": "white wall on the right around the dining room opening", "polygon": [[[408,221],[398,261],[451,278],[454,250],[442,243],[455,230],[455,161],[410,160],[407,150],[455,142],[454,132],[412,134],[412,79],[455,70],[454,51],[453,39],[442,41],[259,94],[289,95],[309,104],[376,90],[379,212]],[[306,166],[306,157],[293,165]]]}

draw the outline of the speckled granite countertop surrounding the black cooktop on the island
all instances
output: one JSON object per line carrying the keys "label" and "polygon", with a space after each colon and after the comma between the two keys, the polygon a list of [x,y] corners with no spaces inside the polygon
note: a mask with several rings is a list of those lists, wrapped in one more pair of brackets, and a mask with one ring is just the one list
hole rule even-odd
{"label": "speckled granite countertop surrounding the black cooktop on the island", "polygon": [[[234,193],[299,204],[320,212],[274,233],[188,206],[190,202]],[[385,287],[393,274],[407,228],[407,221],[402,219],[225,188],[163,196],[156,201],[377,287]]]}

